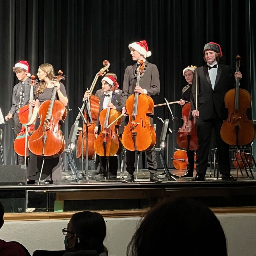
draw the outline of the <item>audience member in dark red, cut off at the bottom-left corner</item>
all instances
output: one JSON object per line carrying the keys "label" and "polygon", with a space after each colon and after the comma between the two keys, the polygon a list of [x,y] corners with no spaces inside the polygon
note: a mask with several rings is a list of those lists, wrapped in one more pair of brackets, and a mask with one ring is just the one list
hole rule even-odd
{"label": "audience member in dark red, cut off at the bottom-left corner", "polygon": [[[4,206],[0,202],[0,229],[4,224]],[[18,242],[5,242],[0,239],[0,255],[3,256],[28,256],[28,250]]]}

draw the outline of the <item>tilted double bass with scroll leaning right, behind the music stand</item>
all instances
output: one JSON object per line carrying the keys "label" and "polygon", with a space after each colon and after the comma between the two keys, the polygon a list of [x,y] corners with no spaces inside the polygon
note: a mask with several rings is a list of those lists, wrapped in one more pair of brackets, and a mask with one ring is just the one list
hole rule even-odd
{"label": "tilted double bass with scroll leaning right, behind the music stand", "polygon": [[[105,67],[101,68],[100,71],[94,77],[92,85],[89,89],[89,93],[92,93],[99,76],[104,76],[106,74],[106,72],[108,71],[108,68],[110,66],[110,63],[108,60],[104,60],[103,65]],[[86,101],[86,99],[85,99],[85,101]],[[84,111],[84,117],[86,118],[86,111],[84,110],[85,101],[83,103],[81,111]],[[92,123],[88,124],[88,159],[89,160],[91,160],[95,154],[95,151],[94,151],[95,134],[93,131],[96,126],[96,121],[97,121],[98,113],[99,113],[99,107],[100,107],[99,98],[94,95],[91,95],[91,97],[90,97],[90,113],[91,113],[91,117],[92,117]],[[81,115],[79,113],[78,116],[76,117],[74,124],[76,123],[76,121],[78,121],[80,116]],[[86,124],[83,124],[82,129],[83,129],[83,157],[85,158],[86,157]],[[79,134],[78,139],[77,139],[77,144],[76,144],[76,158],[80,158],[81,156],[82,156],[82,132]]]}

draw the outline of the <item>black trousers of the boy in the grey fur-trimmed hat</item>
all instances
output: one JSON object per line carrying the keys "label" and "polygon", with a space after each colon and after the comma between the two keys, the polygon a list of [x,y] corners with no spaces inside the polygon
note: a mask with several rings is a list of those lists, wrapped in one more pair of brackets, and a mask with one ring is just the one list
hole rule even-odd
{"label": "black trousers of the boy in the grey fur-trimmed hat", "polygon": [[212,129],[214,129],[216,134],[220,174],[230,174],[229,146],[220,137],[222,123],[223,121],[219,118],[210,118],[208,120],[196,119],[198,136],[196,171],[199,174],[205,175],[207,170]]}

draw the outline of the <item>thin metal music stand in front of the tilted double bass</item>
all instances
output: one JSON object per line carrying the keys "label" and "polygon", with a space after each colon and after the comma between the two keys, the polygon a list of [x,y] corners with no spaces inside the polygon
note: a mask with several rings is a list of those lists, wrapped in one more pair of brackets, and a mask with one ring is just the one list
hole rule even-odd
{"label": "thin metal music stand in front of the tilted double bass", "polygon": [[[100,181],[100,179],[97,179],[95,177],[92,177],[92,176],[88,175],[88,123],[92,123],[92,117],[91,117],[91,113],[90,113],[89,102],[86,101],[86,104],[85,104],[85,111],[86,111],[86,117],[87,117],[86,119],[87,120],[85,119],[82,110],[80,108],[78,108],[78,110],[80,112],[82,121],[86,125],[86,170],[85,170],[85,175],[84,175],[84,172],[83,172],[83,157],[82,157],[82,172],[81,172],[81,175],[86,178],[87,183],[89,183],[89,179]],[[83,125],[82,125],[82,127],[83,127]],[[82,135],[82,156],[83,156],[83,153],[84,153],[83,129],[82,129],[82,134],[81,135]],[[79,179],[81,179],[81,177]]]}

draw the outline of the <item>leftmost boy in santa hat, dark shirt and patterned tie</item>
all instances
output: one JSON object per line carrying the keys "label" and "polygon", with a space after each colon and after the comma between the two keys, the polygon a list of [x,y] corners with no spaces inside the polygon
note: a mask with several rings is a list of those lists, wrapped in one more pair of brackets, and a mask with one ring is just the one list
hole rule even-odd
{"label": "leftmost boy in santa hat, dark shirt and patterned tie", "polygon": [[[19,83],[16,84],[12,92],[12,107],[9,113],[5,116],[5,120],[8,122],[9,119],[13,118],[14,122],[14,132],[16,134],[20,133],[21,123],[18,117],[18,113],[21,107],[30,104],[35,106],[35,95],[33,100],[30,98],[30,79],[31,74],[29,73],[29,65],[27,61],[21,60],[15,64],[12,68],[13,72],[16,74],[16,77],[19,80]],[[36,90],[36,85],[34,85],[34,91]],[[18,156],[19,164],[24,164],[24,157]]]}

